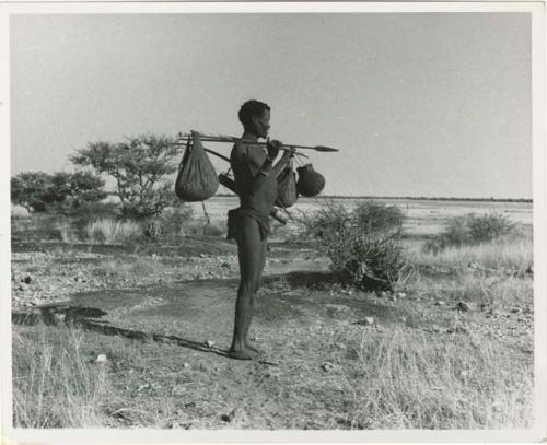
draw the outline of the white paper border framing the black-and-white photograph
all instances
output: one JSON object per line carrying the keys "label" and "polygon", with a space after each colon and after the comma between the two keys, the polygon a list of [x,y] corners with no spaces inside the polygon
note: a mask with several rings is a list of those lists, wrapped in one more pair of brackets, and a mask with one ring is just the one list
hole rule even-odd
{"label": "white paper border framing the black-and-white photograph", "polygon": [[[340,13],[340,12],[528,12],[532,16],[533,221],[535,425],[529,430],[383,430],[383,431],[178,431],[178,430],[28,430],[12,426],[11,387],[11,234],[10,234],[10,42],[13,14],[72,13]],[[0,292],[2,443],[531,443],[547,440],[547,156],[545,148],[545,2],[0,2]]]}

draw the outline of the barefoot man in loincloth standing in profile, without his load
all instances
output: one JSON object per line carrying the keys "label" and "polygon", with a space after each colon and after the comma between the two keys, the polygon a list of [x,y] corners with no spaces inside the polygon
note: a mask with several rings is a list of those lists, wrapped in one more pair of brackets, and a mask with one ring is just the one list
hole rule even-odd
{"label": "barefoot man in loincloth standing in profile, without his load", "polygon": [[229,353],[234,359],[251,360],[259,354],[247,337],[254,297],[266,264],[267,237],[270,233],[268,218],[277,199],[277,175],[294,155],[294,150],[286,151],[274,166],[281,142],[268,139],[266,150],[256,144],[259,138],[268,137],[268,105],[248,101],[242,105],[238,117],[244,132],[232,149],[230,164],[240,196],[240,208],[228,212],[228,237],[237,242],[241,280]]}

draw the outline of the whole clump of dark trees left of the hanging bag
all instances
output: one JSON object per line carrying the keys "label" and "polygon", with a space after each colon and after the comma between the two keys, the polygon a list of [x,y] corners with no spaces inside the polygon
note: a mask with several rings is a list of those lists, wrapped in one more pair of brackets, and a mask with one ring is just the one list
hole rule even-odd
{"label": "whole clump of dark trees left of the hanging bag", "polygon": [[[70,156],[75,173],[23,172],[11,178],[11,201],[30,212],[70,213],[96,209],[108,195],[118,198],[120,218],[154,218],[177,200],[173,174],[181,147],[168,137],[144,134],[124,142],[90,142]],[[105,179],[114,179],[114,190]],[[112,206],[112,203],[110,203]]]}

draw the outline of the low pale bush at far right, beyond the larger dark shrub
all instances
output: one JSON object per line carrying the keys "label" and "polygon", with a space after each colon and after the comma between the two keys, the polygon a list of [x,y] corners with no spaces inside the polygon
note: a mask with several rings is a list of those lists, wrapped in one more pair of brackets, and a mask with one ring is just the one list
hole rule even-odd
{"label": "low pale bush at far right, beyond the larger dark shrub", "polygon": [[516,234],[516,224],[503,214],[487,213],[477,215],[468,213],[445,223],[441,234],[426,244],[427,251],[439,253],[451,246],[465,246],[488,243]]}

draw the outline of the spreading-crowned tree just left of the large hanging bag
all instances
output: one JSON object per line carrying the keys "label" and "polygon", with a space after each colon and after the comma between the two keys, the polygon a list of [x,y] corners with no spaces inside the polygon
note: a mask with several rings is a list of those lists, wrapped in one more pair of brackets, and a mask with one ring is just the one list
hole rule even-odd
{"label": "spreading-crowned tree just left of the large hanging bag", "polygon": [[146,134],[120,143],[90,142],[71,161],[112,176],[123,214],[142,220],[175,203],[168,176],[177,169],[174,160],[179,150],[171,138]]}

